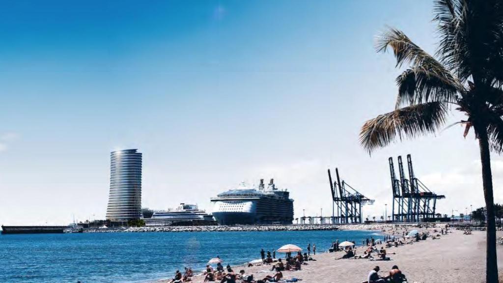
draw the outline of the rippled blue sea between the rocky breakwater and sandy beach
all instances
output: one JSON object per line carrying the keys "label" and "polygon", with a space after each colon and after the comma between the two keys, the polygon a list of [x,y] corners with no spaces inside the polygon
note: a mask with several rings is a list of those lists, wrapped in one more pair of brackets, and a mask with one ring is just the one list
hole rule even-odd
{"label": "rippled blue sea between the rocky breakwater and sandy beach", "polygon": [[[201,270],[217,255],[225,264],[260,258],[260,249],[295,244],[317,252],[331,242],[376,237],[371,231],[84,233],[0,236],[0,282],[144,282]],[[281,256],[280,254],[276,255]]]}

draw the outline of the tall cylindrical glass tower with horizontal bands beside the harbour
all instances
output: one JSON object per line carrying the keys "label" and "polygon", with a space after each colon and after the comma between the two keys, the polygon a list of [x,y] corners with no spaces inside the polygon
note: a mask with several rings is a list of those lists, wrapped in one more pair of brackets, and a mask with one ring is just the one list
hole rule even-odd
{"label": "tall cylindrical glass tower with horizontal bands beside the harbour", "polygon": [[128,221],[141,216],[141,153],[110,153],[110,194],[107,220]]}

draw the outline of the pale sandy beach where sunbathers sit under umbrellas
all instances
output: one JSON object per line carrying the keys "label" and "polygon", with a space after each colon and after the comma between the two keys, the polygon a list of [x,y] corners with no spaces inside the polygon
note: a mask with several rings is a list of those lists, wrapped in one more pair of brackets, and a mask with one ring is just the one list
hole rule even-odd
{"label": "pale sandy beach where sunbathers sit under umbrellas", "polygon": [[[433,229],[429,230],[432,233]],[[398,265],[410,283],[485,282],[485,232],[473,231],[472,235],[463,235],[463,231],[450,231],[452,233],[441,236],[437,240],[428,238],[413,244],[386,248],[390,261],[335,260],[334,258],[341,257],[344,252],[321,253],[312,256],[316,261],[309,261],[307,265],[302,265],[302,270],[283,271],[283,276],[286,279],[296,277],[305,283],[361,283],[367,280],[368,272],[376,265],[381,268],[379,272],[381,276],[387,275],[391,266]],[[503,236],[503,232],[498,232],[497,236]],[[380,245],[378,247],[380,248]],[[363,251],[363,247],[357,248],[357,255],[362,255]],[[503,273],[503,246],[498,245],[497,252],[501,274]],[[271,265],[253,267],[241,265],[234,266],[233,270],[237,273],[240,269],[244,269],[247,275],[253,274],[254,279],[257,280],[266,275],[274,275],[274,272],[270,271],[271,267]],[[204,276],[194,276],[193,282],[203,282],[203,279]],[[169,280],[158,282],[166,281],[169,282]]]}

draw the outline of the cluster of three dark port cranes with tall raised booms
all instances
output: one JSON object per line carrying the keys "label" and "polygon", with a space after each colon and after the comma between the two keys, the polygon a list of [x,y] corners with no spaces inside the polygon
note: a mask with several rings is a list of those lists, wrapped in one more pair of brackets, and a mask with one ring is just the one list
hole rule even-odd
{"label": "cluster of three dark port cranes with tall raised booms", "polygon": [[408,179],[403,170],[402,157],[398,156],[398,174],[395,175],[393,158],[389,158],[391,187],[393,190],[392,218],[393,222],[431,222],[437,217],[435,211],[437,200],[445,198],[432,192],[414,175],[412,158],[407,155]]}

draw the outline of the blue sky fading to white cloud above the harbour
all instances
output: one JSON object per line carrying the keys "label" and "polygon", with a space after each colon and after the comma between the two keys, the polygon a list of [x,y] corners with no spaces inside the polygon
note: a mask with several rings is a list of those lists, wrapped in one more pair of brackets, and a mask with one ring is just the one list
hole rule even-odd
{"label": "blue sky fading to white cloud above the harbour", "polygon": [[[0,2],[0,224],[104,219],[109,153],[143,153],[143,206],[197,203],[275,178],[296,217],[331,214],[328,167],[391,204],[388,157],[447,195],[483,205],[478,145],[461,127],[369,156],[361,125],[391,111],[385,27],[435,50],[430,1]],[[452,121],[460,117],[453,116]],[[396,159],[395,159],[396,161]],[[493,156],[496,201],[503,160]],[[388,209],[388,215],[390,209]]]}

